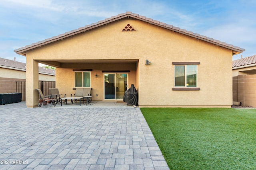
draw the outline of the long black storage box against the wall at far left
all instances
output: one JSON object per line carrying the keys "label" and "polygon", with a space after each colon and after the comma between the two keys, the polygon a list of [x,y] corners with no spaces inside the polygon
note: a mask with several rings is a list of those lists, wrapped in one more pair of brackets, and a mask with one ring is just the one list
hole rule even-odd
{"label": "long black storage box against the wall at far left", "polygon": [[0,105],[21,102],[22,93],[0,93]]}

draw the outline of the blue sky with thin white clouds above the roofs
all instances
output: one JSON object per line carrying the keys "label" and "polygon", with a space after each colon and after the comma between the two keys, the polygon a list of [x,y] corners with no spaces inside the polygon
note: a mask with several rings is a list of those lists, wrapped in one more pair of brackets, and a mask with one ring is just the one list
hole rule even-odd
{"label": "blue sky with thin white clouds above the roofs", "polygon": [[246,49],[256,55],[256,0],[0,0],[0,57],[14,49],[133,12]]}

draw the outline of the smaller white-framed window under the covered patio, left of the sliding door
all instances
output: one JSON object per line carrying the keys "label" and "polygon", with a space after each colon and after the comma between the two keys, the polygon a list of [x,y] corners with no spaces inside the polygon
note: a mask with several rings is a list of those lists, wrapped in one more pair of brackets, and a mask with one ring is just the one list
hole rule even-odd
{"label": "smaller white-framed window under the covered patio, left of the sliding door", "polygon": [[91,72],[75,72],[75,87],[91,87]]}

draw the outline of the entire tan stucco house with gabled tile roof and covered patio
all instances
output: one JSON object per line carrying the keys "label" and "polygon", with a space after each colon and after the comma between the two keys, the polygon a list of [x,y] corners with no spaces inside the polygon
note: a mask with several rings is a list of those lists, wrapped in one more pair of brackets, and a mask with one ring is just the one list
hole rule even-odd
{"label": "entire tan stucco house with gabled tile roof and covered patio", "polygon": [[92,101],[122,101],[134,84],[140,107],[231,107],[232,56],[244,50],[126,12],[14,52],[26,56],[27,107],[38,62],[56,67],[60,93],[91,87]]}

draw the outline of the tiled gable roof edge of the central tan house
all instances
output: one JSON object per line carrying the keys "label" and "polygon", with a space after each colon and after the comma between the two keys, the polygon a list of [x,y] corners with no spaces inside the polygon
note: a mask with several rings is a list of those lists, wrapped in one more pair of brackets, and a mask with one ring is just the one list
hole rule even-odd
{"label": "tiled gable roof edge of the central tan house", "polygon": [[46,44],[52,43],[54,41],[61,40],[61,39],[70,37],[72,35],[76,35],[78,33],[82,33],[82,32],[88,31],[90,29],[94,29],[96,27],[100,27],[100,26],[105,25],[107,23],[111,23],[113,21],[120,20],[120,19],[126,18],[126,17],[128,17],[128,18],[131,17],[131,18],[135,18],[135,19],[138,19],[138,20],[142,20],[142,21],[148,22],[150,24],[158,25],[160,27],[169,29],[169,30],[174,31],[174,32],[182,33],[182,34],[188,35],[190,37],[201,39],[203,41],[207,41],[209,43],[212,43],[212,44],[215,44],[215,45],[227,48],[227,49],[231,49],[233,51],[233,55],[239,54],[239,53],[242,53],[243,51],[245,51],[245,49],[242,49],[240,47],[236,47],[234,45],[227,44],[227,43],[221,42],[219,40],[215,40],[213,38],[206,37],[204,35],[193,33],[191,31],[187,31],[186,29],[181,29],[179,27],[174,27],[172,25],[168,25],[166,23],[162,23],[160,21],[156,21],[156,20],[153,20],[151,18],[146,18],[144,16],[140,16],[139,14],[134,14],[132,12],[126,12],[126,13],[123,13],[123,14],[119,14],[117,16],[112,16],[111,18],[107,18],[107,19],[102,20],[102,21],[98,21],[96,23],[92,23],[90,25],[86,25],[84,27],[80,27],[78,29],[74,29],[74,30],[66,32],[64,34],[60,34],[58,36],[48,38],[48,39],[45,39],[43,41],[39,41],[38,43],[33,43],[31,45],[21,47],[19,49],[14,50],[14,52],[16,52],[17,54],[26,56],[26,51],[28,51],[28,50],[34,49],[36,47],[41,47],[42,45],[46,45]]}

